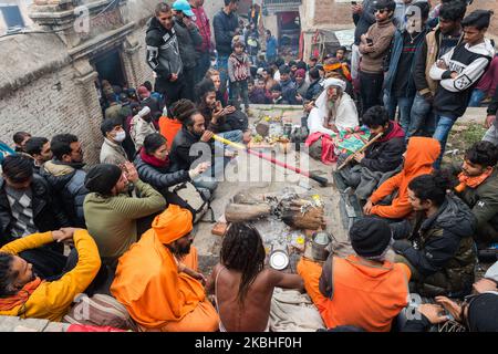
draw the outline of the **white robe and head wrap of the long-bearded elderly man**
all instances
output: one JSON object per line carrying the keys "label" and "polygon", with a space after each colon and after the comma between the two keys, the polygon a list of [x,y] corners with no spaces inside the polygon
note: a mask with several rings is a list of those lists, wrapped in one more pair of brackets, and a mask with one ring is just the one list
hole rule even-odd
{"label": "white robe and head wrap of the long-bearded elderly man", "polygon": [[329,116],[328,112],[328,93],[326,88],[330,86],[339,86],[342,88],[342,97],[338,102],[338,110],[334,123],[339,131],[345,131],[346,128],[355,128],[360,123],[357,119],[357,111],[354,101],[351,96],[344,92],[345,82],[339,79],[326,79],[323,81],[323,92],[320,94],[315,102],[315,107],[311,110],[310,116],[308,117],[308,129],[310,134],[321,132],[328,135],[334,135],[335,133],[324,126],[325,119]]}

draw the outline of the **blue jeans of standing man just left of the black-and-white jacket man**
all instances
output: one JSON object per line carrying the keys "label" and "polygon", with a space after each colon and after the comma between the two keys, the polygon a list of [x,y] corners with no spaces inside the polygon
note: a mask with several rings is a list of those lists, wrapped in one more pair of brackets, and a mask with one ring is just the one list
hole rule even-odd
{"label": "blue jeans of standing man just left of the black-and-white jacket man", "polygon": [[406,137],[433,136],[436,131],[436,116],[433,105],[421,94],[415,95],[412,112],[409,113],[409,127]]}

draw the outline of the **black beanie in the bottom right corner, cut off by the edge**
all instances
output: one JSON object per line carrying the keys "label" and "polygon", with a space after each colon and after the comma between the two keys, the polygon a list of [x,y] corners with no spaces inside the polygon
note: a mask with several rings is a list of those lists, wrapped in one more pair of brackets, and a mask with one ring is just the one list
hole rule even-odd
{"label": "black beanie in the bottom right corner, cut off by the edge", "polygon": [[470,300],[468,325],[471,332],[498,331],[498,294],[481,293]]}

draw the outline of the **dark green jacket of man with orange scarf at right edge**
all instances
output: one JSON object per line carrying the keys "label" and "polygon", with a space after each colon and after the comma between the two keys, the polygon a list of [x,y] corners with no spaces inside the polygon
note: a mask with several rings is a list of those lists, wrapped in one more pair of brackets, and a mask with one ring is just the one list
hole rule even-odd
{"label": "dark green jacket of man with orange scarf at right edge", "polygon": [[477,188],[465,188],[460,198],[473,209],[477,219],[477,235],[491,226],[498,233],[498,169],[495,168]]}

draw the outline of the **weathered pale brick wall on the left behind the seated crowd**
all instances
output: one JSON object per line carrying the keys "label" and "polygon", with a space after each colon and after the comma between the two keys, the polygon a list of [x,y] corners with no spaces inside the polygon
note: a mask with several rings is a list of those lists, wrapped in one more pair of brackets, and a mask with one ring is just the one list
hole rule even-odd
{"label": "weathered pale brick wall on the left behind the seated crowd", "polygon": [[[85,160],[97,162],[102,144],[98,131],[102,115],[94,110],[89,112],[87,103],[81,94],[83,87],[76,83],[74,75],[73,67],[68,65],[2,97],[0,139],[13,144],[12,135],[18,131],[48,138],[60,133],[71,133],[83,143]],[[96,98],[96,92],[83,90],[86,98]]]}

